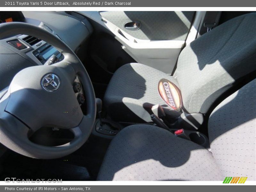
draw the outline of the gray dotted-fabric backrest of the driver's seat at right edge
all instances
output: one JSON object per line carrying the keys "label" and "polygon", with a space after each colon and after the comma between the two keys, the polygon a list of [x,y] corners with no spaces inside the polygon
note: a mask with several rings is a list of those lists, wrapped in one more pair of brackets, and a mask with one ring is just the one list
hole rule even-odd
{"label": "gray dotted-fabric backrest of the driver's seat at right edge", "polygon": [[214,109],[208,132],[222,174],[256,180],[256,80]]}

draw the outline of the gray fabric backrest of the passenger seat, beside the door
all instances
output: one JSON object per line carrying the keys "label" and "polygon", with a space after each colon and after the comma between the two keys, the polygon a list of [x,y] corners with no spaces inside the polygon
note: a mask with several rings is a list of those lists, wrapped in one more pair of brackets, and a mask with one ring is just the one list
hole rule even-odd
{"label": "gray fabric backrest of the passenger seat, beside the door", "polygon": [[206,113],[235,80],[256,70],[256,13],[229,20],[180,53],[176,76],[189,113]]}

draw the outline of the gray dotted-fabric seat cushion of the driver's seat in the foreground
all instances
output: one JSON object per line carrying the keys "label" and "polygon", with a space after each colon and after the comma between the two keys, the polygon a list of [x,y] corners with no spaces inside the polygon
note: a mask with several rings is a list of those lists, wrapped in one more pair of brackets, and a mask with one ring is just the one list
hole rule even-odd
{"label": "gray dotted-fabric seat cushion of the driver's seat in the foreground", "polygon": [[153,125],[132,125],[112,140],[98,180],[223,180],[223,176],[207,149]]}

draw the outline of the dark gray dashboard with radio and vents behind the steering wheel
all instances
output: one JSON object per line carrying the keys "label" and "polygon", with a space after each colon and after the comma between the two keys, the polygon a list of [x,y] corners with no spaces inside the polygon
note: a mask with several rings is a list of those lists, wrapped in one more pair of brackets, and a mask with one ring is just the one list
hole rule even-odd
{"label": "dark gray dashboard with radio and vents behind the steering wheel", "polygon": [[[85,17],[68,12],[0,12],[0,30],[5,22],[25,22],[47,30],[65,42],[80,60],[84,59],[85,42],[92,34],[92,26]],[[44,65],[53,55],[57,57],[55,62],[63,59],[55,47],[36,37],[20,34],[1,39],[0,92],[20,70]]]}

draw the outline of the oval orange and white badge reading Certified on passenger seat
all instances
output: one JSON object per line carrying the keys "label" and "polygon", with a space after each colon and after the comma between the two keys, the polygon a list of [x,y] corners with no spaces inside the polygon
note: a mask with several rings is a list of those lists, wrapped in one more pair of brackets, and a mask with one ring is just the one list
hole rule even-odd
{"label": "oval orange and white badge reading Certified on passenger seat", "polygon": [[178,87],[167,79],[161,79],[158,83],[158,92],[164,102],[176,111],[181,109],[181,95]]}

